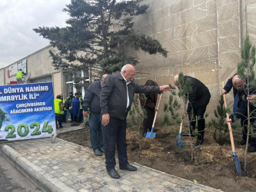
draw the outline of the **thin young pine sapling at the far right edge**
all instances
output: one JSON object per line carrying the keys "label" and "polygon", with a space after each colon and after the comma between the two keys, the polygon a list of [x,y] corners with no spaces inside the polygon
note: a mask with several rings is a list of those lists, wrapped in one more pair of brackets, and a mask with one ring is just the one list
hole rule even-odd
{"label": "thin young pine sapling at the far right edge", "polygon": [[[251,45],[249,41],[249,37],[247,36],[244,41],[244,46],[241,49],[241,62],[238,63],[238,77],[241,79],[246,80],[244,82],[244,92],[249,97],[251,94],[256,94],[256,92],[252,92],[251,90],[256,89],[256,80],[254,75],[254,64],[255,64],[255,48]],[[252,101],[252,104],[255,104],[255,101]],[[255,111],[250,111],[250,102],[248,102],[248,114],[247,119],[250,120],[251,117],[256,117]],[[251,124],[248,121],[248,134],[245,146],[245,153],[244,153],[244,170],[246,170],[247,165],[247,151],[248,151],[248,141],[249,136],[254,136],[253,127],[255,124]]]}

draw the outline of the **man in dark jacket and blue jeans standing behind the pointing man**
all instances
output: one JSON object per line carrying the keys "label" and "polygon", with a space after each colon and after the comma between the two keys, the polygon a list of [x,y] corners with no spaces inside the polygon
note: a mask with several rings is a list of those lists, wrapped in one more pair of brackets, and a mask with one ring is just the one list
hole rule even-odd
{"label": "man in dark jacket and blue jeans standing behind the pointing man", "polygon": [[90,140],[91,147],[95,155],[101,156],[104,153],[102,129],[101,129],[101,106],[100,93],[101,86],[108,74],[103,74],[101,81],[95,81],[85,91],[83,102],[83,114],[88,117],[90,111],[89,126],[90,126]]}

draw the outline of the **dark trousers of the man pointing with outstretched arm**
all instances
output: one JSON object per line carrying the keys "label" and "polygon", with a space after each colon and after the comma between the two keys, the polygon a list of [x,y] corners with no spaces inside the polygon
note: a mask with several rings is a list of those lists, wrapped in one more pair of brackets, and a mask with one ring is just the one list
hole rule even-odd
{"label": "dark trousers of the man pointing with outstretched arm", "polygon": [[110,118],[107,126],[102,126],[107,170],[115,167],[115,145],[118,148],[119,166],[128,163],[126,151],[126,119]]}

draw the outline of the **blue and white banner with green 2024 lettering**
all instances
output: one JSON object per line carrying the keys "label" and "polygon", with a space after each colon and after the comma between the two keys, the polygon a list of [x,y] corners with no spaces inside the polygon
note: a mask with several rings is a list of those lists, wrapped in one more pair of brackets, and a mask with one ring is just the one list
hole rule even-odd
{"label": "blue and white banner with green 2024 lettering", "polygon": [[52,83],[0,86],[0,141],[55,134],[53,99]]}

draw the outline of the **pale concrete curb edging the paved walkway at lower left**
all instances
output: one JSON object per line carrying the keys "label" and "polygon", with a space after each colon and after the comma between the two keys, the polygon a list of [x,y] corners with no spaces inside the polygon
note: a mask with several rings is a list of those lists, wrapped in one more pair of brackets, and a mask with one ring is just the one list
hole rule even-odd
{"label": "pale concrete curb edging the paved walkway at lower left", "polygon": [[44,191],[53,192],[75,192],[74,189],[68,187],[66,184],[62,183],[60,180],[52,177],[51,174],[42,170],[42,168],[32,164],[25,157],[22,157],[17,151],[4,145],[2,147],[2,154],[6,157],[22,174],[25,174],[28,179],[32,180],[38,187]]}

